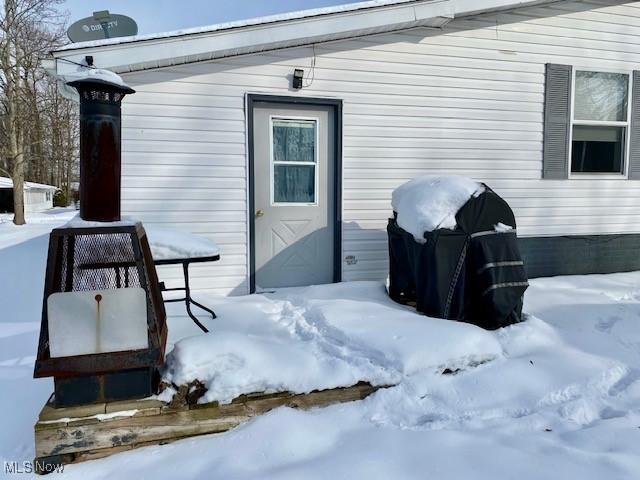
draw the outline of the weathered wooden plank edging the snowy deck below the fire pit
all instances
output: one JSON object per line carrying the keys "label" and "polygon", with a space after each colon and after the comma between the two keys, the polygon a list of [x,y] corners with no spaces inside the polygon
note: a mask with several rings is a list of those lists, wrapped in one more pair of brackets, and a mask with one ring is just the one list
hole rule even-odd
{"label": "weathered wooden plank edging the snowy deck below the fire pit", "polygon": [[[65,463],[99,458],[143,445],[224,432],[280,406],[306,410],[361,400],[379,388],[386,387],[361,382],[351,387],[307,394],[249,394],[225,405],[212,402],[190,407],[159,407],[157,401],[152,401],[155,402],[153,405],[142,409],[143,415],[108,417],[99,421],[91,417],[88,419],[91,421],[87,422],[38,422],[35,426],[36,455],[38,458],[63,458]],[[117,413],[118,406],[123,409],[121,411],[139,410],[135,407],[143,402],[119,402],[103,408],[111,413]],[[48,408],[45,406],[45,409]],[[46,428],[43,428],[45,425]]]}

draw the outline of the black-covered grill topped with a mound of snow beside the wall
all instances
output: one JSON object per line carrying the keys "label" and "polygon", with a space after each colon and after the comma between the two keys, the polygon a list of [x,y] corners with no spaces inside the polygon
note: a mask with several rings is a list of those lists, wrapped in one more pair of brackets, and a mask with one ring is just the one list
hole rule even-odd
{"label": "black-covered grill topped with a mound of snow beside the wall", "polygon": [[[401,303],[415,302],[430,317],[496,329],[520,321],[527,276],[511,208],[487,185],[476,183],[474,190],[469,182],[421,177],[394,191],[394,218],[387,226],[389,295]],[[423,193],[422,201],[416,190]],[[398,225],[402,217],[442,216],[443,202],[453,209],[455,225],[435,221],[434,229],[423,232],[424,240],[415,238],[411,222],[403,224],[413,233]]]}

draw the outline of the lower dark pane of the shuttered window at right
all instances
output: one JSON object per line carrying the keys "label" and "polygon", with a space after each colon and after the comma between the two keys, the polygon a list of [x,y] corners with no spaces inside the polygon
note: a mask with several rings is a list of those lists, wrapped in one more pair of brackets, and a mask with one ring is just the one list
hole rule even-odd
{"label": "lower dark pane of the shuttered window at right", "polygon": [[623,173],[624,127],[573,126],[571,171]]}

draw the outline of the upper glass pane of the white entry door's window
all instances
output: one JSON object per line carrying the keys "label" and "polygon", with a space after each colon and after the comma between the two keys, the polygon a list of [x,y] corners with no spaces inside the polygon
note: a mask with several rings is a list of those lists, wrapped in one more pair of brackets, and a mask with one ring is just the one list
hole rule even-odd
{"label": "upper glass pane of the white entry door's window", "polygon": [[316,161],[316,121],[273,119],[275,162]]}

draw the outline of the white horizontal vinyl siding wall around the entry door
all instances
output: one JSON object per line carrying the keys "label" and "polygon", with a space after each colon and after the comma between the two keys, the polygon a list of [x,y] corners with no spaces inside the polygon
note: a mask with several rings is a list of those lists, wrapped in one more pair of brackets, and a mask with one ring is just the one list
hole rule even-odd
{"label": "white horizontal vinyl siding wall around the entry door", "polygon": [[[387,272],[392,190],[422,174],[486,182],[520,236],[640,233],[640,183],[543,180],[546,63],[640,68],[640,5],[563,1],[304,48],[125,75],[123,211],[203,234],[222,260],[192,287],[247,292],[247,93],[343,100],[343,279]],[[294,67],[311,74],[290,89]],[[305,75],[306,76],[306,75]],[[167,284],[177,269],[161,272]]]}

